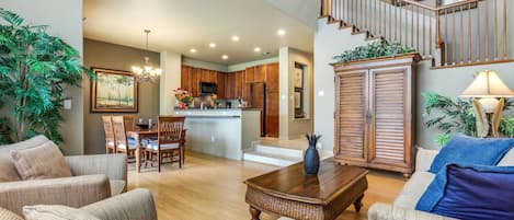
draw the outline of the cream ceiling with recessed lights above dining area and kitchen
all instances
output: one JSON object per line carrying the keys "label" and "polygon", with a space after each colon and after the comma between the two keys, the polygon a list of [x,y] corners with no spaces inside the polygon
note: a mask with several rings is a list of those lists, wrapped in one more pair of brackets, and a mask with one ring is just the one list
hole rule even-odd
{"label": "cream ceiling with recessed lights above dining area and kitchen", "polygon": [[[316,21],[317,7],[306,2],[316,0],[281,1],[84,0],[84,37],[145,48],[144,30],[148,28],[149,50],[222,65],[274,57],[282,46],[312,53],[315,28],[305,22]],[[296,10],[300,16],[294,16]],[[285,36],[276,34],[279,28]],[[232,42],[232,35],[240,40]],[[209,48],[209,43],[216,43],[216,48]],[[266,51],[271,54],[262,55]],[[224,60],[222,55],[229,58]]]}

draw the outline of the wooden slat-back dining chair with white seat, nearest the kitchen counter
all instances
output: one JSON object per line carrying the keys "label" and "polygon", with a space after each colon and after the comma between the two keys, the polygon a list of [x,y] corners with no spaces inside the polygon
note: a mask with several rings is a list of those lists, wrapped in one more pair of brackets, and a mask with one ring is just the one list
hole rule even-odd
{"label": "wooden slat-back dining chair with white seat, nearest the kitchen counter", "polygon": [[[150,155],[157,155],[158,171],[161,172],[162,155],[170,154],[171,162],[179,162],[179,167],[182,169],[184,157],[184,117],[175,116],[159,116],[157,129],[158,138],[155,141],[148,142],[146,149]],[[179,160],[174,160],[175,154]]]}

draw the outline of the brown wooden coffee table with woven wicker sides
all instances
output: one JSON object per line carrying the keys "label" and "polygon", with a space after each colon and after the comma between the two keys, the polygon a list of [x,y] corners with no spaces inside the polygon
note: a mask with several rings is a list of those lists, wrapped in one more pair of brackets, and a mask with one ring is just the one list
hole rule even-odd
{"label": "brown wooden coffee table with woven wicker sides", "polygon": [[269,212],[296,220],[333,220],[352,204],[357,212],[367,189],[365,169],[321,161],[317,176],[305,175],[304,163],[247,180],[252,220]]}

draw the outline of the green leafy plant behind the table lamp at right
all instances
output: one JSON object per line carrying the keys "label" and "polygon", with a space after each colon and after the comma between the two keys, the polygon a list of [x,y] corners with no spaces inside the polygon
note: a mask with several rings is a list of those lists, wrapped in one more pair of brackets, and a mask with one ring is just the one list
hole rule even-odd
{"label": "green leafy plant behind the table lamp at right", "polygon": [[[435,142],[444,146],[456,132],[477,136],[477,126],[471,100],[457,99],[456,101],[437,93],[422,93],[425,100],[423,117],[426,117],[426,128],[436,128],[442,131]],[[514,107],[512,100],[505,100],[503,109]],[[502,136],[514,137],[514,117],[503,115],[500,119],[499,131]]]}

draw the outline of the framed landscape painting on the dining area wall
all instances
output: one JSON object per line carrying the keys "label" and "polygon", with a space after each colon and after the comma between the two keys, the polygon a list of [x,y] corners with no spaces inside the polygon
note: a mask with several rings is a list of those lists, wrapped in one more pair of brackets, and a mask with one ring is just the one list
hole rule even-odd
{"label": "framed landscape painting on the dining area wall", "polygon": [[92,113],[137,113],[138,82],[132,72],[93,68]]}

